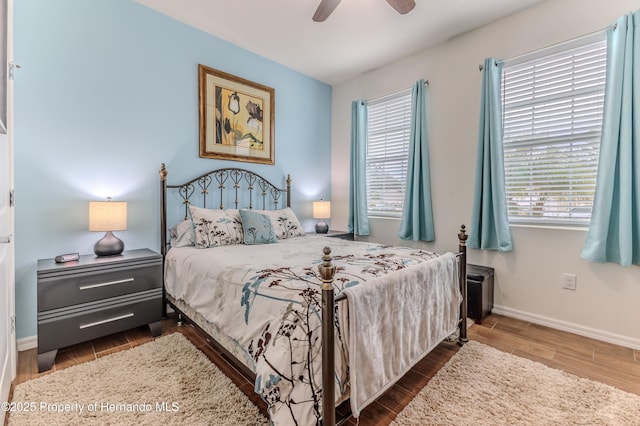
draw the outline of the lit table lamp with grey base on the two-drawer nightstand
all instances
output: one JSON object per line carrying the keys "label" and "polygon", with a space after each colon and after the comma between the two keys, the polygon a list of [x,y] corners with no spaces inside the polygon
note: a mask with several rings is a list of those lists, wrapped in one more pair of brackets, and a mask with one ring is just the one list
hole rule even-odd
{"label": "lit table lamp with grey base on the two-drawer nightstand", "polygon": [[105,232],[94,246],[96,256],[113,256],[124,251],[124,243],[113,235],[113,231],[127,229],[126,201],[91,201],[89,202],[89,231]]}

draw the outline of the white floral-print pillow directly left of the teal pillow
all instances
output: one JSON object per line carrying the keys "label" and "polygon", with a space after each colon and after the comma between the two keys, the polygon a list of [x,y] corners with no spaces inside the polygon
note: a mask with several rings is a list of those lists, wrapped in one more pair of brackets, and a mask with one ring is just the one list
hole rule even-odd
{"label": "white floral-print pillow directly left of the teal pillow", "polygon": [[242,244],[244,231],[238,210],[214,210],[189,206],[196,247]]}

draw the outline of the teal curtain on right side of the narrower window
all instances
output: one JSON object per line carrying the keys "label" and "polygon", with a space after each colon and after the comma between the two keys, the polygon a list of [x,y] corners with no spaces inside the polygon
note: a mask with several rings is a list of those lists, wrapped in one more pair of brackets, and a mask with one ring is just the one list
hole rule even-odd
{"label": "teal curtain on right side of the narrower window", "polygon": [[411,93],[411,132],[404,208],[398,236],[404,240],[434,241],[431,179],[429,176],[429,135],[424,80]]}

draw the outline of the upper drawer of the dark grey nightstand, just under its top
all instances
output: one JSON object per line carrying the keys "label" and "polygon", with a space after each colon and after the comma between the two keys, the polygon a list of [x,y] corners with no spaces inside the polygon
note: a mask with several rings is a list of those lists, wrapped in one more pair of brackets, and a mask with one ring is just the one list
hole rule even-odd
{"label": "upper drawer of the dark grey nightstand, just under its top", "polygon": [[38,312],[160,288],[162,264],[38,277]]}

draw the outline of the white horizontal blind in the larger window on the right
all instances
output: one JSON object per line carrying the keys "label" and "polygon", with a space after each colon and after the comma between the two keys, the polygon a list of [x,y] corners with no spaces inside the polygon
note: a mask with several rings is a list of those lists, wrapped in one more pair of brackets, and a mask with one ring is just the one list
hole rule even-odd
{"label": "white horizontal blind in the larger window on the right", "polygon": [[595,192],[606,42],[503,68],[504,166],[511,223],[588,224]]}

